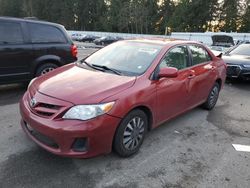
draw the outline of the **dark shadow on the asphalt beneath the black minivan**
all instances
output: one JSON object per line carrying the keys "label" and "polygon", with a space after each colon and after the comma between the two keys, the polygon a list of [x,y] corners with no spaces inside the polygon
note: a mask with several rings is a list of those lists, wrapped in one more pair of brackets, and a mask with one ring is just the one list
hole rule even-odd
{"label": "dark shadow on the asphalt beneath the black minivan", "polygon": [[25,84],[0,85],[0,106],[18,103],[26,89]]}

